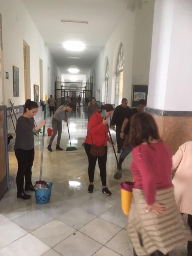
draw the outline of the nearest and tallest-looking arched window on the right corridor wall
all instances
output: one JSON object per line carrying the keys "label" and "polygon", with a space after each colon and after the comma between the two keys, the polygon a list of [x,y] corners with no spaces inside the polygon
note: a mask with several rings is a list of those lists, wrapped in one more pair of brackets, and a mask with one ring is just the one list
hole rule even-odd
{"label": "nearest and tallest-looking arched window on the right corridor wall", "polygon": [[117,73],[116,73],[116,87],[115,87],[115,106],[120,105],[123,98],[123,44],[120,45],[117,58]]}

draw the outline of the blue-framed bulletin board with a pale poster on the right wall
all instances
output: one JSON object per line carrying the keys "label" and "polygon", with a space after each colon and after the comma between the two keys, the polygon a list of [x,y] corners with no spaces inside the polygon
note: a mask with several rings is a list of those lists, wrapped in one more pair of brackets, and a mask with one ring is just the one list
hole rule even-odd
{"label": "blue-framed bulletin board with a pale poster on the right wall", "polygon": [[132,107],[138,106],[140,99],[145,99],[147,102],[148,85],[146,84],[133,84],[132,85]]}

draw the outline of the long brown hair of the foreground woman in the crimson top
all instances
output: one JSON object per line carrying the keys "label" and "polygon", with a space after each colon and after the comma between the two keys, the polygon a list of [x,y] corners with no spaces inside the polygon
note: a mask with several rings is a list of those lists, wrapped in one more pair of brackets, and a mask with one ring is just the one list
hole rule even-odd
{"label": "long brown hair of the foreground woman in the crimson top", "polygon": [[131,118],[128,142],[136,147],[143,142],[149,143],[149,139],[160,140],[157,124],[153,116],[148,113],[137,113]]}

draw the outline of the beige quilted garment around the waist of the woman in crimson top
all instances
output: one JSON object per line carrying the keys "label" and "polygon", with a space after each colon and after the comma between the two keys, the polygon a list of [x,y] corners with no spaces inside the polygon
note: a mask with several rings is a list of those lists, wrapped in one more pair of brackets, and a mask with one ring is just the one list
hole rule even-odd
{"label": "beige quilted garment around the waist of the woman in crimson top", "polygon": [[166,206],[166,212],[161,216],[146,212],[143,190],[133,189],[128,233],[138,256],[147,256],[157,250],[166,255],[187,240],[192,240],[191,231],[176,206],[173,187],[157,190],[156,200]]}

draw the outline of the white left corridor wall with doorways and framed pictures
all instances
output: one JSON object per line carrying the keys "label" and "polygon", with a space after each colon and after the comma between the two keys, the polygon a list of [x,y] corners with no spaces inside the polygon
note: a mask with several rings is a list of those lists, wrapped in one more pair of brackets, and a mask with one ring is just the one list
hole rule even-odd
{"label": "white left corridor wall with doorways and framed pictures", "polygon": [[[9,79],[4,79],[5,104],[11,98],[14,105],[25,102],[23,40],[30,46],[30,95],[33,100],[33,85],[39,84],[39,58],[43,61],[43,95],[53,94],[54,80],[60,74],[45,42],[34,25],[25,5],[21,0],[0,1],[0,12],[3,25],[3,57],[4,71],[9,72]],[[12,66],[19,68],[19,97],[13,97]],[[48,84],[48,68],[50,77]],[[40,86],[39,86],[40,87]],[[49,96],[49,95],[48,95]]]}

